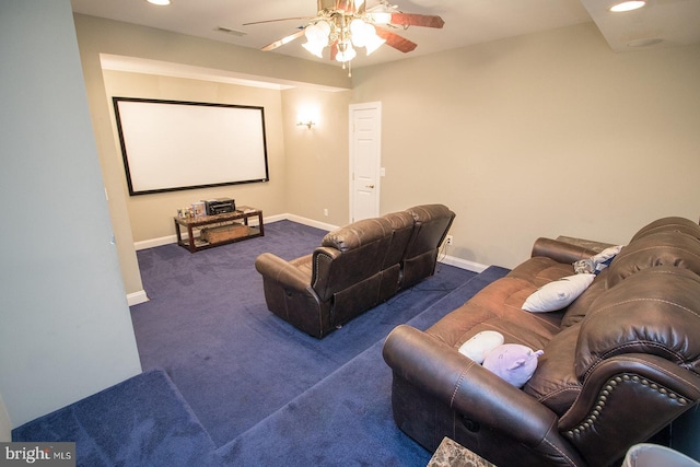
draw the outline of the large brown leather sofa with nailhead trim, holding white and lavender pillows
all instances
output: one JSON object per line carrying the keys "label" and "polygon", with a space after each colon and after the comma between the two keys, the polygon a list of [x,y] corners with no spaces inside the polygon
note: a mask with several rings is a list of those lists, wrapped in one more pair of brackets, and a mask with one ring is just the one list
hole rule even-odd
{"label": "large brown leather sofa with nailhead trim, holding white and lavender pillows", "polygon": [[[499,467],[607,466],[700,398],[700,226],[640,230],[568,307],[521,310],[596,252],[538,240],[530,259],[425,331],[384,343],[398,427],[430,451],[448,436]],[[544,349],[516,388],[458,352],[482,330]]]}

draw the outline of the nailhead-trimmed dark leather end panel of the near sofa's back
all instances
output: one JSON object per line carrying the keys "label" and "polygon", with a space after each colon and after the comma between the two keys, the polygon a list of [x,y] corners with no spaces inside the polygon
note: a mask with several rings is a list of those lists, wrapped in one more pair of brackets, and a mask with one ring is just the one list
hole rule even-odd
{"label": "nailhead-trimmed dark leather end panel of the near sofa's back", "polygon": [[611,357],[587,376],[559,430],[590,465],[620,458],[700,399],[700,377],[663,357]]}

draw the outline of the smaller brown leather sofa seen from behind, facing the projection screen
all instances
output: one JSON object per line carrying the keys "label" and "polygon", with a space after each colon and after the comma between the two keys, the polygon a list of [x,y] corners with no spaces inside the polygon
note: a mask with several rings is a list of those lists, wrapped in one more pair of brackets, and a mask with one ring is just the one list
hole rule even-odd
{"label": "smaller brown leather sofa seen from behind, facing the projection screen", "polygon": [[271,253],[255,267],[268,308],[322,338],[399,290],[432,276],[455,213],[424,205],[329,232],[311,255],[287,261]]}

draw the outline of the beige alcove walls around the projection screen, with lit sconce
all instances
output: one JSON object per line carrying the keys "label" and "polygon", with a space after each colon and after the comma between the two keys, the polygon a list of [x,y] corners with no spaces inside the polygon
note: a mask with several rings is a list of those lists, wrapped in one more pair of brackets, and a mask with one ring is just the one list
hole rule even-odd
{"label": "beige alcove walls around the projection screen, with lit sconce", "polygon": [[[118,174],[135,242],[174,235],[177,208],[201,199],[234,198],[238,205],[262,209],[265,215],[293,213],[324,223],[342,224],[348,219],[347,109],[350,91],[329,92],[314,87],[280,91],[213,81],[170,78],[103,70],[107,96],[148,97],[261,106],[265,108],[270,182],[205,189],[128,196],[124,170]],[[313,108],[319,116],[313,128],[296,126],[296,115]],[[114,141],[118,144],[114,114]],[[117,150],[117,157],[120,152]],[[192,163],[196,163],[196,156]],[[118,164],[115,164],[118,165]],[[337,194],[336,194],[337,192]],[[334,194],[329,196],[328,194]],[[328,217],[323,215],[324,208]]]}

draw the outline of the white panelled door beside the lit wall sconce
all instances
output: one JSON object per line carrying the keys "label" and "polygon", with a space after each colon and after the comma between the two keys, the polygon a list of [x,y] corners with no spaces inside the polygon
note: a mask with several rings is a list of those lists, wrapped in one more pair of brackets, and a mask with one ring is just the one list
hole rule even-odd
{"label": "white panelled door beside the lit wall sconce", "polygon": [[350,105],[350,222],[380,215],[382,103]]}

